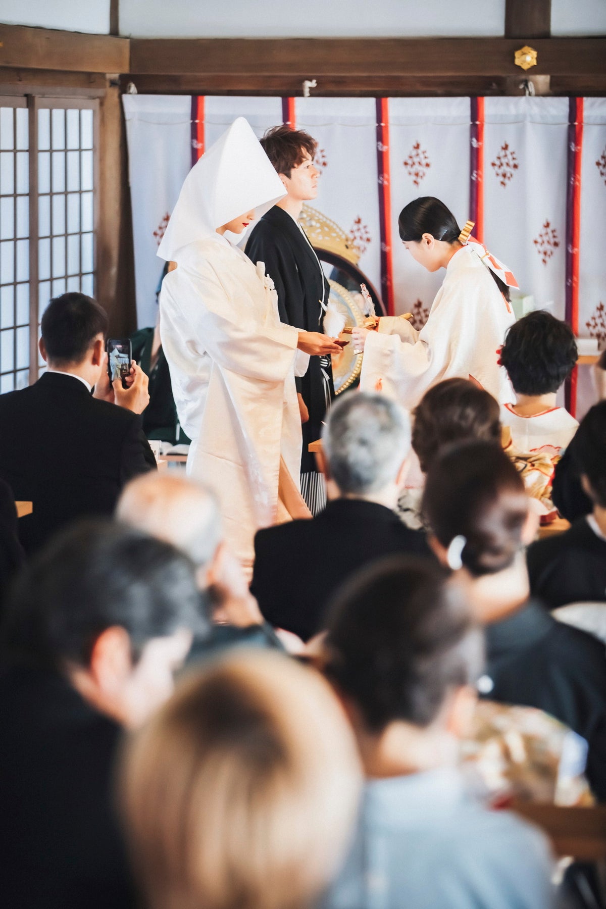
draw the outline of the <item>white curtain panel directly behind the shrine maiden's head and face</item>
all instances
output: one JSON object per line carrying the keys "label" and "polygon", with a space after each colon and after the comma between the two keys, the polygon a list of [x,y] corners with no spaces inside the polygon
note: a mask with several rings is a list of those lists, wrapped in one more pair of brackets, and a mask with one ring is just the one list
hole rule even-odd
{"label": "white curtain panel directly behind the shrine maiden's head and face", "polygon": [[443,271],[430,274],[409,255],[398,215],[421,195],[435,195],[463,226],[469,213],[469,98],[390,98],[393,287],[396,315],[424,324]]}

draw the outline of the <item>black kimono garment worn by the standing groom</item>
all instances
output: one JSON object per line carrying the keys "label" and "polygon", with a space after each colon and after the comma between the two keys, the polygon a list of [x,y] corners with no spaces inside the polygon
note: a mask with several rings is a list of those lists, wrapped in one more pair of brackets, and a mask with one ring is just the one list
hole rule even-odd
{"label": "black kimono garment worn by the standing groom", "polygon": [[[267,275],[273,280],[278,295],[280,318],[305,332],[321,332],[323,308],[328,303],[330,285],[320,274],[313,250],[306,242],[291,215],[277,205],[263,215],[253,228],[246,244],[246,255],[254,262],[264,262]],[[330,357],[328,358],[330,362]],[[334,394],[331,377],[330,393]],[[296,379],[297,391],[309,410],[309,422],[303,424],[303,453],[301,471],[314,471],[313,454],[307,450],[310,442],[320,438],[326,413],[326,401],[319,356],[310,357],[307,373]]]}

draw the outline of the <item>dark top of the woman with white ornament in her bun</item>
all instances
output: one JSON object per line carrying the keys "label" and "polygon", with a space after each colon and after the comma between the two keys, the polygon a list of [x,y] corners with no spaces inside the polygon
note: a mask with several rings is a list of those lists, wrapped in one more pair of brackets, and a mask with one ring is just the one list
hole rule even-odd
{"label": "dark top of the woman with white ornament in her bun", "polygon": [[539,707],[589,744],[587,778],[606,801],[606,654],[579,628],[530,602],[486,625],[485,674],[491,701]]}

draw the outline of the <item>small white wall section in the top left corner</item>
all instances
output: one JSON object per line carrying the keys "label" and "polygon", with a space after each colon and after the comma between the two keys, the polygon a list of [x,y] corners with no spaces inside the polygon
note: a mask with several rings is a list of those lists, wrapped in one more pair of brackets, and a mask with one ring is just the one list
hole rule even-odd
{"label": "small white wall section in the top left corner", "polygon": [[110,0],[0,0],[0,22],[107,35],[109,3]]}

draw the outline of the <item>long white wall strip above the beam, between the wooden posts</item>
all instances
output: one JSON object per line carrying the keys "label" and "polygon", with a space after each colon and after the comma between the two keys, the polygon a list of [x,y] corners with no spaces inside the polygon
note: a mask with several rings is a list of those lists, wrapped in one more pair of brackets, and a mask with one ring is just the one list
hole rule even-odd
{"label": "long white wall strip above the beam, between the wooden posts", "polygon": [[504,21],[505,0],[120,0],[120,34],[150,38],[502,35]]}

